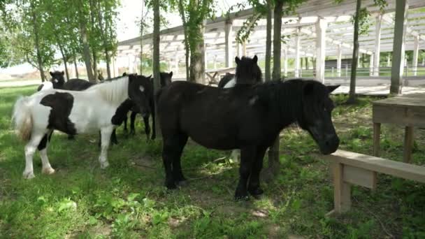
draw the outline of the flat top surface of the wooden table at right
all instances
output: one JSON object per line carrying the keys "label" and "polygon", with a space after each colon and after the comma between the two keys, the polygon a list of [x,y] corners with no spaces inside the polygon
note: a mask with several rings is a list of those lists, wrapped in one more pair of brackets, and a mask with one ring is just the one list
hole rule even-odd
{"label": "flat top surface of the wooden table at right", "polygon": [[395,96],[379,101],[373,101],[373,105],[378,106],[406,106],[406,107],[425,107],[425,94],[406,94],[404,96]]}

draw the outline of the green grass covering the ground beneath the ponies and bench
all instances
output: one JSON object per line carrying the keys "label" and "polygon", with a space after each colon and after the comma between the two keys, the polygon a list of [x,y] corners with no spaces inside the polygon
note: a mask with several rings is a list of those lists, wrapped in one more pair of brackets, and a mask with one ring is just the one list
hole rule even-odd
{"label": "green grass covering the ground beneath the ponies and bench", "polygon": [[[424,238],[425,186],[380,175],[376,191],[354,187],[353,207],[336,218],[329,166],[308,134],[282,131],[280,173],[262,182],[264,196],[233,201],[238,165],[229,152],[188,143],[182,167],[190,180],[172,192],[164,187],[161,143],[147,143],[138,118],[136,136],[120,128],[109,151],[110,167],[99,168],[97,134],[69,141],[55,133],[49,149],[55,175],[24,180],[23,144],[10,129],[17,95],[35,87],[0,89],[0,238]],[[362,97],[333,112],[341,149],[372,153],[371,104]],[[415,129],[415,164],[425,164],[425,134]],[[382,126],[382,157],[401,160],[403,129]],[[265,162],[265,166],[267,160]]]}

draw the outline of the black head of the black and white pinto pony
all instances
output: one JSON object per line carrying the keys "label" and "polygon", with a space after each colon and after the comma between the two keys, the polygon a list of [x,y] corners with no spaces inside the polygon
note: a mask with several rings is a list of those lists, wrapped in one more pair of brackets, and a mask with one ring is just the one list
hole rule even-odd
{"label": "black head of the black and white pinto pony", "polygon": [[129,98],[143,117],[151,113],[150,101],[153,96],[153,85],[150,77],[129,74]]}

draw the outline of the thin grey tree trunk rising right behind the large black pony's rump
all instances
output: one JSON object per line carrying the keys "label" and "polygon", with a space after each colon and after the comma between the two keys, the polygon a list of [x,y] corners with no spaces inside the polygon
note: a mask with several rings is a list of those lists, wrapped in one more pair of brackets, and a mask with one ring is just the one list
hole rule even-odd
{"label": "thin grey tree trunk rising right behind the large black pony's rump", "polygon": [[[154,32],[153,32],[153,59],[152,59],[152,72],[154,74],[154,94],[157,94],[161,89],[160,75],[159,75],[159,0],[153,0],[152,8],[154,11]],[[157,115],[157,104],[154,104],[154,114]],[[159,119],[155,117],[155,119]],[[159,124],[155,124],[155,131],[158,138],[161,136],[161,128]]]}

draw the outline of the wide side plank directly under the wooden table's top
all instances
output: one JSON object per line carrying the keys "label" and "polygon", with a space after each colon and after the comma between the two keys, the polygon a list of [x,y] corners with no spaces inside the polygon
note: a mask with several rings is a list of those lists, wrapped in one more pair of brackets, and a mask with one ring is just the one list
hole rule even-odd
{"label": "wide side plank directly under the wooden table's top", "polygon": [[[424,99],[425,102],[425,99]],[[425,127],[425,107],[373,105],[373,122]]]}

